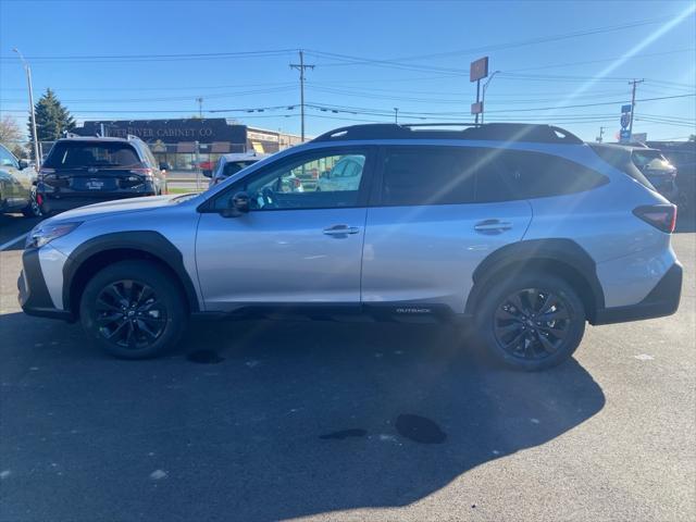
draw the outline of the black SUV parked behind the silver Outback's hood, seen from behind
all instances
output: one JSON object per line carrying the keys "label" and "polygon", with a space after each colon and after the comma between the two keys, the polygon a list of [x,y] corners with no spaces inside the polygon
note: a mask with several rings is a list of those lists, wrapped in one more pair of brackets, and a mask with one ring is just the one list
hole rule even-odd
{"label": "black SUV parked behind the silver Outback's hood, seen from behind", "polygon": [[38,179],[45,213],[112,199],[166,194],[164,164],[146,144],[127,138],[69,137],[55,141]]}

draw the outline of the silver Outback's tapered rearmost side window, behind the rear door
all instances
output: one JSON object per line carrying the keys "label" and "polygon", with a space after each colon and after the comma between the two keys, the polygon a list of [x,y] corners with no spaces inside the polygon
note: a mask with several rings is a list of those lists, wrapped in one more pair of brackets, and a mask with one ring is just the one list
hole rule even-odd
{"label": "silver Outback's tapered rearmost side window, behind the rear door", "polygon": [[546,198],[582,192],[609,179],[573,161],[542,152],[480,149],[476,201]]}

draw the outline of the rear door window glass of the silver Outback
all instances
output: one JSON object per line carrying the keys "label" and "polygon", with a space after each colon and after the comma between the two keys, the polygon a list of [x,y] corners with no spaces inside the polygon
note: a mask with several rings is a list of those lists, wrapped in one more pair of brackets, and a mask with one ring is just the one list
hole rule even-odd
{"label": "rear door window glass of the silver Outback", "polygon": [[456,147],[388,149],[382,204],[456,204],[474,201],[475,153]]}

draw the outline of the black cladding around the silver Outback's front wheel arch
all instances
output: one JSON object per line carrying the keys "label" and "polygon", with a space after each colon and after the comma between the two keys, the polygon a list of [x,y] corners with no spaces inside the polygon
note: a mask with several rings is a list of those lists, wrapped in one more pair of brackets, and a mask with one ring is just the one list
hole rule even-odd
{"label": "black cladding around the silver Outback's front wheel arch", "polygon": [[[76,309],[78,302],[72,302],[73,286],[76,276],[85,263],[95,256],[105,251],[132,250],[152,258],[167,266],[181,284],[189,310],[199,312],[196,287],[184,266],[184,256],[166,237],[152,231],[133,231],[104,234],[79,245],[69,257],[63,266],[63,304],[66,310]],[[146,258],[146,259],[147,259]],[[120,261],[122,259],[114,260]],[[83,288],[84,289],[84,288]]]}

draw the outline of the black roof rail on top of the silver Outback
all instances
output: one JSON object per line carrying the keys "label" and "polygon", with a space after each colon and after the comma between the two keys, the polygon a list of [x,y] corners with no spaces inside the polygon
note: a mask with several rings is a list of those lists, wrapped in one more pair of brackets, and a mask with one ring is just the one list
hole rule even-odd
{"label": "black roof rail on top of the silver Outback", "polygon": [[[421,128],[446,126],[464,128]],[[480,139],[490,141],[533,141],[574,145],[583,142],[577,136],[563,128],[530,123],[376,123],[340,127],[322,134],[312,141],[363,139]]]}

